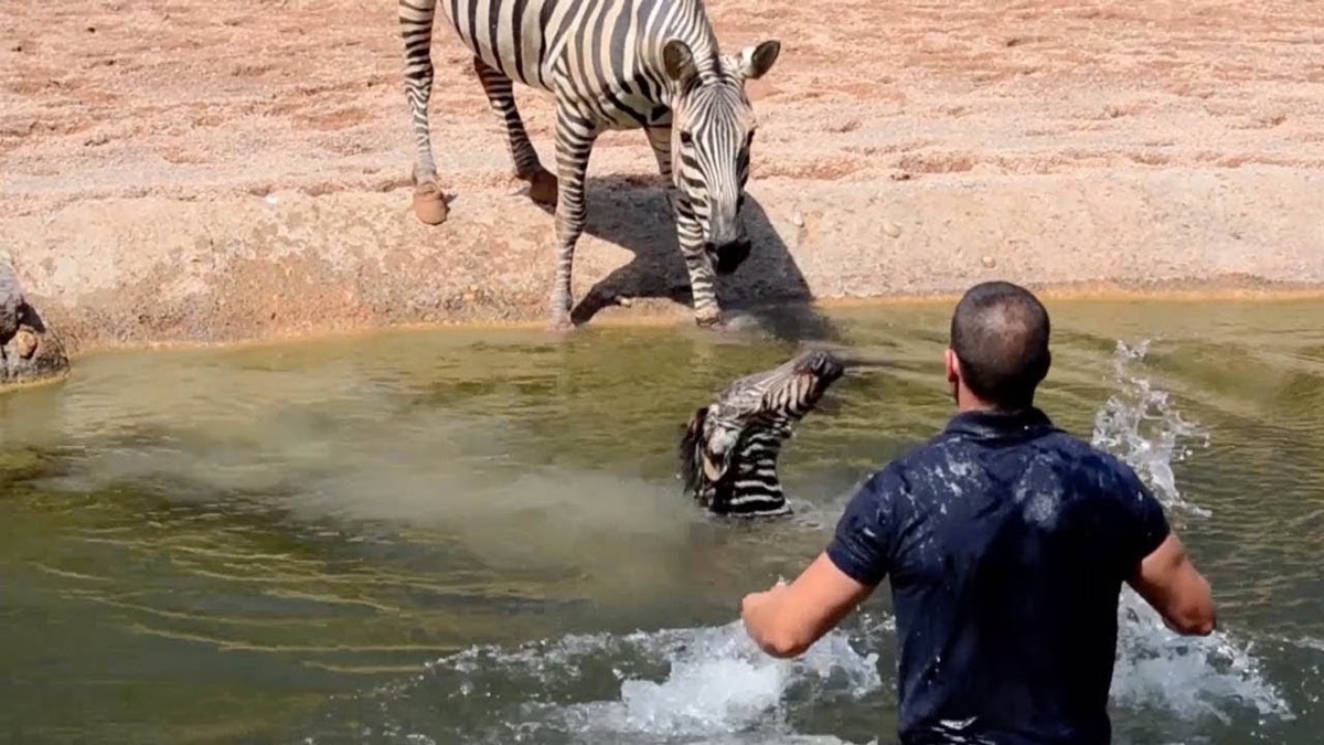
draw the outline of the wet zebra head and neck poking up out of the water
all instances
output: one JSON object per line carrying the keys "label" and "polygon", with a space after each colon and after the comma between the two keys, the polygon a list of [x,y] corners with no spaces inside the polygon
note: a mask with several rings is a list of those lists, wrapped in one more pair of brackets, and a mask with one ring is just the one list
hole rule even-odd
{"label": "wet zebra head and neck poking up out of the water", "polygon": [[690,416],[681,436],[681,479],[716,514],[790,512],[777,479],[777,456],[796,424],[845,372],[829,351],[808,351],[747,375]]}

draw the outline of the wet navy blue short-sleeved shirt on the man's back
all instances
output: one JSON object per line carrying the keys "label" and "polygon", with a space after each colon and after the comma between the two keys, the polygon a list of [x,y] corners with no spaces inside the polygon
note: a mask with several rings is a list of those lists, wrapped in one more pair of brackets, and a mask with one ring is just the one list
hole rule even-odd
{"label": "wet navy blue short-sleeved shirt on the man's back", "polygon": [[964,412],[861,485],[828,557],[890,578],[903,744],[1092,745],[1121,583],[1168,532],[1129,467],[1042,411]]}

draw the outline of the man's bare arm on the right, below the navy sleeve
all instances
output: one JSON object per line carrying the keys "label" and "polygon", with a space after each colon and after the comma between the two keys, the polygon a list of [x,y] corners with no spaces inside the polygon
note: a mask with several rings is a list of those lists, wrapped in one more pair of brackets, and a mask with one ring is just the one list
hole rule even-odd
{"label": "man's bare arm on the right, below the navy sleeve", "polygon": [[1188,636],[1207,636],[1217,626],[1214,598],[1176,533],[1140,561],[1128,581],[1168,628]]}

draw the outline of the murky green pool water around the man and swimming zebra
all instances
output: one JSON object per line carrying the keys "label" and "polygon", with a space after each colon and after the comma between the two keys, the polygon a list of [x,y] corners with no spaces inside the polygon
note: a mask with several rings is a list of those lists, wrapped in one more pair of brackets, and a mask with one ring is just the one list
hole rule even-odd
{"label": "murky green pool water around the man and swimming zebra", "polygon": [[[1054,304],[1041,404],[1153,485],[1221,628],[1127,593],[1123,744],[1324,726],[1324,304]],[[0,740],[890,742],[887,593],[779,661],[740,597],[951,414],[945,308],[839,312],[887,369],[788,443],[797,514],[698,514],[674,443],[789,343],[392,333],[106,354],[0,396]]]}

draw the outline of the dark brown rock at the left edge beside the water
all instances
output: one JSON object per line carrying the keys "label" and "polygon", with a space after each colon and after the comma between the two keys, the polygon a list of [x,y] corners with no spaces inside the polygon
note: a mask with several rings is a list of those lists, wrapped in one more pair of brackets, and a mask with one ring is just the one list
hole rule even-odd
{"label": "dark brown rock at the left edge beside the water", "polygon": [[28,304],[8,252],[0,251],[0,390],[68,372],[64,345]]}

